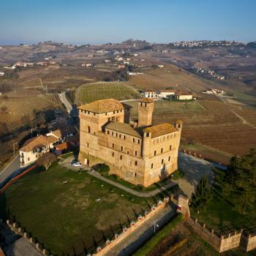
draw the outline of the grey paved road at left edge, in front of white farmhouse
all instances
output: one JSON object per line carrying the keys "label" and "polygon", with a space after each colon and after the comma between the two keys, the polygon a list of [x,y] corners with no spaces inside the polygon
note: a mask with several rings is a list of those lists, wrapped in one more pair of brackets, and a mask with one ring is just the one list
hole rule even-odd
{"label": "grey paved road at left edge, in front of white farmhouse", "polygon": [[17,155],[12,161],[4,168],[0,173],[0,187],[6,183],[6,181],[13,178],[20,173],[20,157]]}

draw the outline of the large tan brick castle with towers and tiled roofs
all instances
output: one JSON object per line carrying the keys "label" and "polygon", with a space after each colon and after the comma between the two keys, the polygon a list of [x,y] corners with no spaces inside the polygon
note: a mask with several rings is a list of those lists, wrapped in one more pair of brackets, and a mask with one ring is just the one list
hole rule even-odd
{"label": "large tan brick castle with towers and tiled roofs", "polygon": [[92,165],[98,157],[110,173],[148,187],[177,170],[182,122],[152,125],[153,99],[138,99],[138,123],[129,121],[131,108],[116,99],[81,105],[79,159]]}

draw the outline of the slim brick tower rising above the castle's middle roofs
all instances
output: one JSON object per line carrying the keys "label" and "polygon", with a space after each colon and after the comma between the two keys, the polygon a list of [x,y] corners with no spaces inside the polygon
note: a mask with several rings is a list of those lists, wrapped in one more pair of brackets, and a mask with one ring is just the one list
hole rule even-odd
{"label": "slim brick tower rising above the castle's middle roofs", "polygon": [[153,99],[143,98],[138,100],[138,126],[147,127],[152,124],[154,110]]}

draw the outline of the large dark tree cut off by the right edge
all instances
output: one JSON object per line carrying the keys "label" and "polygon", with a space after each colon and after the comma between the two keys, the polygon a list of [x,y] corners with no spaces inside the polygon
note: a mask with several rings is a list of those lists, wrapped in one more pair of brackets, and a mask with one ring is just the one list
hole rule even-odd
{"label": "large dark tree cut off by the right edge", "polygon": [[232,157],[221,181],[224,195],[235,208],[246,214],[256,208],[256,150],[251,149],[243,157]]}

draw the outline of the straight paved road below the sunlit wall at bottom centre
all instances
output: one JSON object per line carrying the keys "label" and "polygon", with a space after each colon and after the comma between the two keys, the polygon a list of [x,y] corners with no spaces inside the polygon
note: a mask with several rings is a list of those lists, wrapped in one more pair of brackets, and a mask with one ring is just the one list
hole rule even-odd
{"label": "straight paved road below the sunlit wall at bottom centre", "polygon": [[138,229],[129,234],[127,238],[116,244],[105,256],[128,256],[135,253],[141,244],[148,241],[149,238],[154,236],[154,225],[156,225],[156,232],[161,227],[164,227],[176,215],[175,206],[167,206],[154,216],[149,218]]}

